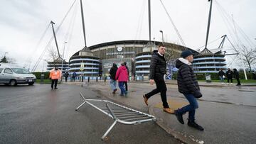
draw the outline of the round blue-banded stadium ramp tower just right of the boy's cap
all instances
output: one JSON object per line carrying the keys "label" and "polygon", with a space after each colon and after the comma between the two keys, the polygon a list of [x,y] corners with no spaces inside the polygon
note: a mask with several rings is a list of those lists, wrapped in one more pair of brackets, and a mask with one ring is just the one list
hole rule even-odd
{"label": "round blue-banded stadium ramp tower just right of the boy's cap", "polygon": [[227,70],[225,55],[221,50],[211,52],[206,48],[193,57],[193,70],[196,73],[217,73],[220,69]]}

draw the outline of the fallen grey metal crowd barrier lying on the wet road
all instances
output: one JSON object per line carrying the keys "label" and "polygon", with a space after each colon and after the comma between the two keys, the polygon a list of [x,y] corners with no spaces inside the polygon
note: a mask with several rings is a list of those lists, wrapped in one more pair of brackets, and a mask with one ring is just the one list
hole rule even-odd
{"label": "fallen grey metal crowd barrier lying on the wet road", "polygon": [[134,109],[130,109],[126,106],[122,106],[119,104],[116,104],[112,101],[107,100],[101,100],[101,99],[85,99],[85,97],[80,93],[80,96],[83,99],[82,104],[78,106],[75,111],[78,111],[80,107],[87,103],[90,104],[95,109],[101,111],[102,113],[105,113],[107,116],[110,116],[110,118],[114,119],[114,123],[110,126],[110,128],[106,131],[106,133],[102,136],[102,140],[107,136],[108,133],[110,133],[111,129],[114,127],[114,125],[119,122],[127,125],[136,125],[140,123],[144,123],[147,121],[156,121],[156,118],[154,116],[151,116],[146,113],[142,113],[141,111],[137,111]]}

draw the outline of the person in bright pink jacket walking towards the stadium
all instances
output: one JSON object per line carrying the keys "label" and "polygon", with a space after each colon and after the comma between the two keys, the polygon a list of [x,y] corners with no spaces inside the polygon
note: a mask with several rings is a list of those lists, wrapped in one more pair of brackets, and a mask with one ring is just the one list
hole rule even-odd
{"label": "person in bright pink jacket walking towards the stadium", "polygon": [[118,86],[121,90],[121,94],[119,94],[119,96],[127,96],[127,91],[124,89],[124,82],[127,82],[128,74],[124,63],[122,63],[121,66],[117,69],[115,79],[118,79]]}

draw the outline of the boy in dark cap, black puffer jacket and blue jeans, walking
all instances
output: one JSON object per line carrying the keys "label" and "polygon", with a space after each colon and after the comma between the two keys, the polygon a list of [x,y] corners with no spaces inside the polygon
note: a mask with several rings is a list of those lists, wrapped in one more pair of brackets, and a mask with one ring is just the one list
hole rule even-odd
{"label": "boy in dark cap, black puffer jacket and blue jeans, walking", "polygon": [[174,111],[174,114],[181,124],[184,124],[183,114],[188,112],[188,126],[196,128],[199,131],[203,131],[203,127],[195,122],[195,113],[198,109],[198,101],[196,99],[202,96],[196,75],[191,67],[193,62],[193,53],[190,50],[181,52],[181,58],[176,60],[176,67],[178,68],[177,81],[178,92],[181,92],[189,104],[183,106],[181,109]]}

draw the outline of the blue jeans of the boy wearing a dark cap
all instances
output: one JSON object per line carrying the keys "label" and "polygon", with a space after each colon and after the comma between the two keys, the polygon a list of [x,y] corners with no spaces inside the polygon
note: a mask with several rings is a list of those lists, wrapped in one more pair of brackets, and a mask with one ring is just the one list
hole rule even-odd
{"label": "blue jeans of the boy wearing a dark cap", "polygon": [[193,94],[184,94],[189,104],[181,109],[178,109],[178,113],[184,114],[188,112],[188,121],[195,121],[196,109],[198,109],[198,102]]}

